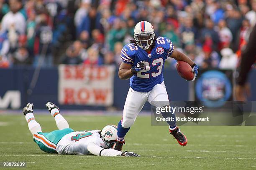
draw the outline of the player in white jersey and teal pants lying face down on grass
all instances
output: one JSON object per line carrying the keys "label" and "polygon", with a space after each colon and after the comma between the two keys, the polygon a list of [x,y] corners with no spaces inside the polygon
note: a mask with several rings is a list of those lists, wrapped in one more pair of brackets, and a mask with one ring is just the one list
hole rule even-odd
{"label": "player in white jersey and teal pants lying face down on grass", "polygon": [[46,153],[68,155],[97,155],[97,156],[129,156],[140,157],[133,152],[120,152],[112,149],[117,138],[117,126],[107,125],[102,131],[76,131],[69,128],[67,120],[60,114],[59,107],[51,102],[46,103],[59,130],[42,133],[41,126],[33,115],[33,104],[28,103],[23,108],[23,114],[28,122],[28,128],[34,142]]}

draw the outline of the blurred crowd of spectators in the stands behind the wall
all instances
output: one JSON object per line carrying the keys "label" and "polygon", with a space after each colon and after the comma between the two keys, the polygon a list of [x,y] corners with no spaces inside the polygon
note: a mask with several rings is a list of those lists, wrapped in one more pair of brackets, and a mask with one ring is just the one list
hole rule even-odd
{"label": "blurred crowd of spectators in the stands behind the wall", "polygon": [[235,69],[256,0],[0,0],[0,20],[0,67],[119,66],[146,20],[201,68]]}

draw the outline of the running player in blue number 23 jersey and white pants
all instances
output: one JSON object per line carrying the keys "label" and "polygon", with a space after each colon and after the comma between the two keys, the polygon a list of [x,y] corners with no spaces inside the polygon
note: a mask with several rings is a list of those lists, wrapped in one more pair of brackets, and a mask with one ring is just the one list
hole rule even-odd
{"label": "running player in blue number 23 jersey and white pants", "polygon": [[[192,67],[191,72],[194,72],[193,80],[198,72],[198,66],[182,52],[175,50],[171,40],[155,37],[151,23],[139,22],[134,28],[134,39],[121,51],[123,62],[118,75],[121,80],[130,78],[130,89],[124,105],[123,118],[118,123],[115,150],[122,149],[124,137],[146,101],[154,107],[169,105],[163,77],[164,62],[168,57],[187,62]],[[175,118],[174,114],[172,116]],[[167,123],[169,132],[177,139],[179,145],[187,145],[187,138],[177,127],[176,121]]]}

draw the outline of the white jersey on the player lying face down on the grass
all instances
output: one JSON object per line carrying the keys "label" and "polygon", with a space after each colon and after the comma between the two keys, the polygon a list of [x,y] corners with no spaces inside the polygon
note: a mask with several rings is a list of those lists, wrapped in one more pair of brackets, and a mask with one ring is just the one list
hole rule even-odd
{"label": "white jersey on the player lying face down on the grass", "polygon": [[59,154],[68,155],[88,155],[87,149],[89,143],[95,143],[97,146],[104,148],[105,143],[100,138],[100,130],[77,131],[65,135],[56,146]]}

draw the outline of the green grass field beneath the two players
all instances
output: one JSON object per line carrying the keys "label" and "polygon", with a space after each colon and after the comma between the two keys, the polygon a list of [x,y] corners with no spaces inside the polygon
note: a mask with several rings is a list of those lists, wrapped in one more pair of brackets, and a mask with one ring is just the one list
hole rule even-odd
{"label": "green grass field beneath the two players", "polygon": [[[36,115],[43,132],[56,130],[50,115]],[[74,130],[102,129],[121,116],[64,115]],[[22,114],[0,115],[0,162],[26,161],[27,168],[47,169],[256,169],[256,127],[182,126],[188,145],[179,146],[165,126],[151,126],[149,116],[138,117],[125,138],[124,150],[141,158],[57,155],[41,151],[33,142]],[[4,168],[0,168],[4,169]],[[12,168],[8,168],[12,169]],[[16,169],[16,168],[15,168]]]}

